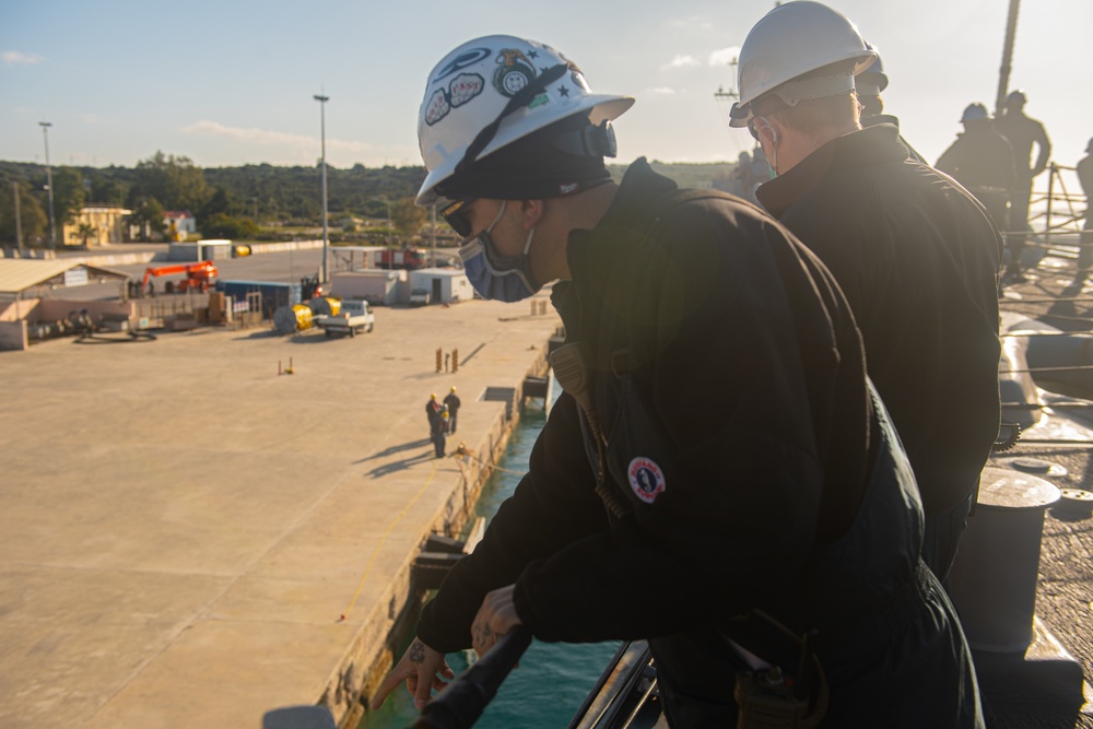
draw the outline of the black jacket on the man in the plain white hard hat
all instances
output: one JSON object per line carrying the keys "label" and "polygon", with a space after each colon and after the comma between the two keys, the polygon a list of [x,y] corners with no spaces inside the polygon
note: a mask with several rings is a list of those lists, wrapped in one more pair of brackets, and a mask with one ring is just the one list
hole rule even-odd
{"label": "black jacket on the man in the plain white hard hat", "polygon": [[835,275],[927,514],[971,493],[998,435],[1001,240],[983,205],[889,125],[845,134],[759,189]]}

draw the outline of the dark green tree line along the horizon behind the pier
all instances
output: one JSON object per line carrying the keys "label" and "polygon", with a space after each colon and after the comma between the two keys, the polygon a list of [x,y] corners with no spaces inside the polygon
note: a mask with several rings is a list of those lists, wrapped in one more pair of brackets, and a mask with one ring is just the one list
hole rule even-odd
{"label": "dark green tree line along the horizon behind the pier", "polygon": [[[731,164],[666,164],[654,168],[684,187],[710,187],[731,174]],[[621,179],[624,165],[611,165]],[[57,245],[61,225],[75,221],[89,204],[122,205],[130,210],[127,222],[138,240],[155,239],[164,233],[164,212],[188,210],[205,238],[262,240],[290,238],[289,230],[321,223],[321,167],[274,166],[201,168],[189,157],[156,152],[136,167],[52,168],[54,219]],[[327,164],[327,211],[331,240],[372,240],[379,233],[359,231],[353,219],[390,220],[390,228],[403,242],[414,238],[427,213],[413,205],[413,197],[425,178],[415,167],[365,167],[339,169]],[[16,243],[15,209],[23,243],[48,245],[48,186],[45,165],[0,161],[0,246]],[[438,221],[445,234],[451,235]],[[381,231],[384,235],[388,228]]]}

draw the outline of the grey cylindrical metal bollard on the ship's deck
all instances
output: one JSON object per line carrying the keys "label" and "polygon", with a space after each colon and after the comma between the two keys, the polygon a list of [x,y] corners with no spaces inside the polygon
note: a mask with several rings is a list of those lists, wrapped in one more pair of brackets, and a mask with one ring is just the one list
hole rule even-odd
{"label": "grey cylindrical metal bollard on the ship's deck", "polygon": [[1033,640],[1044,512],[1058,487],[1020,471],[985,468],[948,590],[967,643],[987,652],[1022,652]]}

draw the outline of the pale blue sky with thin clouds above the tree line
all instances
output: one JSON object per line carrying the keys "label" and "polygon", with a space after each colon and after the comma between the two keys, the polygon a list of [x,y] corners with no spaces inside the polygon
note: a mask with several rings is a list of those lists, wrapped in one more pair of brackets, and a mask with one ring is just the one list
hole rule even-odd
{"label": "pale blue sky with thin clouds above the tree line", "polygon": [[[973,101],[994,106],[1009,0],[839,0],[882,54],[886,110],[930,161]],[[420,164],[425,77],[448,50],[493,33],[548,43],[593,91],[631,94],[620,161],[736,160],[728,60],[769,0],[310,2],[0,0],[0,160],[132,166],[157,150],[202,167],[314,164],[320,90],[327,160]],[[1026,91],[1053,157],[1093,137],[1093,1],[1025,0],[1011,87]]]}

